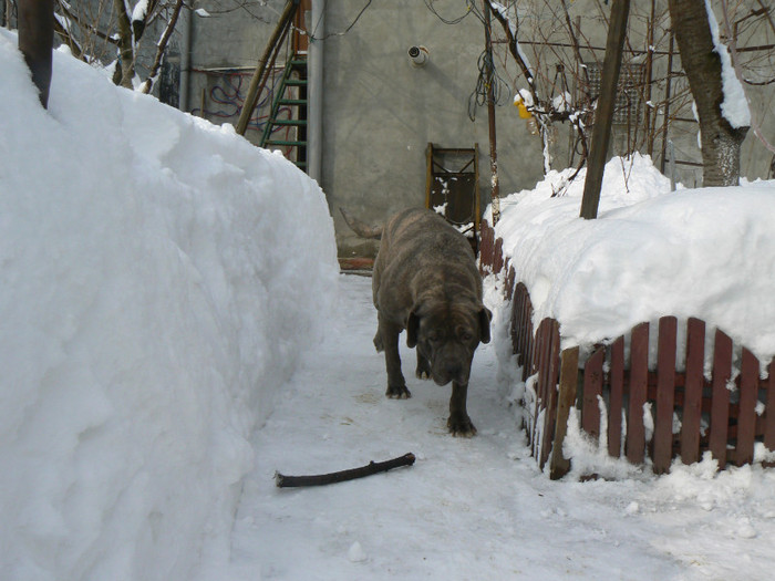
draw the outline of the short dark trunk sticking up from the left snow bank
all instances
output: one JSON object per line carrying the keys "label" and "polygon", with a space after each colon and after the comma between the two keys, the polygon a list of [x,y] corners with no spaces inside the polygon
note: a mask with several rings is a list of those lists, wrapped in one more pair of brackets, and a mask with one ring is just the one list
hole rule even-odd
{"label": "short dark trunk sticking up from the left snow bank", "polygon": [[24,55],[38,87],[40,103],[49,106],[51,87],[51,51],[54,45],[54,1],[21,0],[19,2],[19,51]]}

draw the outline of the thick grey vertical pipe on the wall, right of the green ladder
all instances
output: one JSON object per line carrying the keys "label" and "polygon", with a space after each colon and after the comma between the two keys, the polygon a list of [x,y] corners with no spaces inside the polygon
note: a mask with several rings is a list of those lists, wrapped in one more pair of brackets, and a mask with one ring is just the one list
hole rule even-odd
{"label": "thick grey vertical pipe on the wall, right of the green ladder", "polygon": [[[307,174],[320,184],[323,153],[323,46],[326,7],[323,0],[312,0],[309,30],[309,110],[307,126]],[[314,34],[314,38],[313,38]]]}

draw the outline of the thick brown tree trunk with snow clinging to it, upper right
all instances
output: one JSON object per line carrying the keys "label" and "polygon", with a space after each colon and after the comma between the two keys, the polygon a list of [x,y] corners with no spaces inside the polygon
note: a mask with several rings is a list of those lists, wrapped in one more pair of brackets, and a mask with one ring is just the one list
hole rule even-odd
{"label": "thick brown tree trunk with snow clinging to it, upper right", "polygon": [[714,50],[705,0],[670,0],[669,4],[681,64],[700,117],[703,186],[736,186],[740,148],[748,127],[733,127],[723,115],[722,63]]}

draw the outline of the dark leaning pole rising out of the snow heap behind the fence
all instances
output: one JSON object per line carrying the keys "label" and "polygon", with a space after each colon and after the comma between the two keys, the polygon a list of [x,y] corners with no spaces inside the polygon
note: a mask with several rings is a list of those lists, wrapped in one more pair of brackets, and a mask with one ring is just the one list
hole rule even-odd
{"label": "dark leaning pole rising out of the snow heap behind the fence", "polygon": [[606,42],[606,60],[602,64],[602,80],[600,81],[600,97],[595,112],[595,127],[592,127],[592,144],[589,148],[587,162],[587,179],[583,184],[583,198],[581,199],[581,218],[595,219],[598,217],[600,204],[600,187],[606,169],[608,144],[611,139],[611,122],[613,121],[613,106],[617,101],[617,83],[621,69],[622,48],[627,35],[627,17],[630,12],[630,0],[613,0],[611,7],[611,23],[608,29]]}

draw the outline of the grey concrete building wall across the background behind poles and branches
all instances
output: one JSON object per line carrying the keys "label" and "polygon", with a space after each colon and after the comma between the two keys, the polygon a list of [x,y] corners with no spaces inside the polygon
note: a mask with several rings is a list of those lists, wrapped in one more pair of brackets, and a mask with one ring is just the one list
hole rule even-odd
{"label": "grey concrete building wall across the background behind poles and branches", "polygon": [[[754,7],[753,0],[745,0]],[[373,0],[362,12],[368,0],[337,0],[324,2],[326,30],[317,37],[323,46],[323,128],[321,186],[326,191],[334,218],[341,257],[371,256],[373,241],[358,238],[344,225],[339,208],[370,224],[383,222],[390,214],[407,206],[422,206],[425,196],[425,152],[428,142],[443,147],[473,147],[478,143],[480,158],[480,190],[483,205],[489,199],[490,175],[488,157],[488,127],[486,107],[475,107],[476,120],[468,118],[468,100],[476,86],[477,60],[484,49],[484,28],[473,13],[466,14],[463,0],[434,0],[432,7],[444,18],[464,17],[459,23],[445,24],[420,0]],[[480,2],[474,2],[480,6]],[[549,2],[555,6],[555,3]],[[717,2],[713,2],[714,6]],[[236,123],[238,103],[259,55],[275,29],[285,0],[258,1],[205,0],[209,18],[193,17],[190,25],[192,52],[188,110],[202,113],[202,103],[211,121]],[[630,18],[630,48],[641,51],[631,59],[643,59],[648,46],[647,22],[651,18],[650,2],[633,2]],[[519,3],[524,10],[520,40],[568,42],[564,19],[547,12],[544,0]],[[568,3],[572,21],[582,32],[583,43],[598,50],[585,50],[585,61],[602,61],[610,7],[596,0],[576,0]],[[745,7],[742,9],[745,11]],[[358,20],[356,20],[358,19]],[[355,21],[356,20],[356,21]],[[657,2],[658,51],[668,50],[666,33],[670,22],[666,1]],[[354,23],[353,23],[354,22]],[[313,24],[312,24],[313,25]],[[312,27],[311,25],[311,27]],[[310,28],[311,28],[310,27]],[[503,38],[494,22],[497,37]],[[349,29],[349,30],[348,30]],[[537,32],[540,29],[540,33]],[[768,32],[769,30],[769,32]],[[320,37],[323,38],[320,38]],[[775,42],[771,29],[762,27],[746,38],[747,44]],[[410,64],[407,49],[423,45],[430,61],[422,68]],[[531,63],[541,69],[546,96],[551,92],[554,60],[565,54],[567,46],[549,46],[526,42],[523,49]],[[766,54],[765,54],[766,56]],[[772,61],[772,59],[769,59]],[[496,45],[496,66],[504,80],[500,104],[497,107],[497,153],[502,195],[531,188],[542,177],[544,155],[539,137],[530,135],[524,120],[512,105],[515,90],[525,86],[513,59],[504,44]],[[762,59],[760,59],[762,61]],[[765,59],[766,61],[766,59]],[[280,63],[278,63],[280,64]],[[772,65],[772,62],[769,63]],[[676,59],[673,70],[680,69]],[[224,73],[224,70],[228,70]],[[662,126],[666,56],[654,60],[652,113],[655,127]],[[772,77],[773,69],[762,72]],[[672,95],[680,91],[673,80]],[[572,83],[571,83],[572,84]],[[571,92],[575,86],[569,87]],[[764,120],[765,135],[775,141],[775,92],[772,85],[746,89],[753,97],[753,110]],[[204,90],[204,101],[203,101]],[[231,92],[232,94],[227,94]],[[218,103],[215,97],[224,95]],[[691,98],[683,110],[671,114],[691,118]],[[623,154],[632,143],[632,128],[617,127],[611,154]],[[256,141],[256,129],[248,138]],[[642,138],[643,132],[640,131]],[[566,167],[569,153],[569,126],[559,124],[552,133],[550,152],[554,167]],[[680,160],[701,160],[696,147],[696,125],[681,122],[671,125],[670,137],[676,144]],[[642,147],[640,147],[642,151]],[[653,157],[661,163],[662,136],[654,139]],[[767,177],[772,154],[753,136],[743,147],[743,175],[748,178]],[[575,162],[578,160],[578,156]],[[688,186],[701,180],[702,172],[691,165],[679,165],[678,178]]]}

